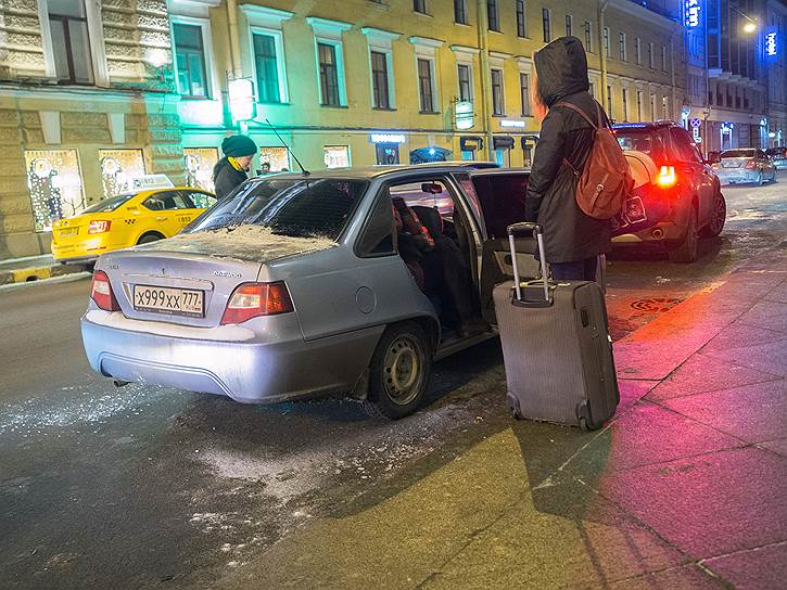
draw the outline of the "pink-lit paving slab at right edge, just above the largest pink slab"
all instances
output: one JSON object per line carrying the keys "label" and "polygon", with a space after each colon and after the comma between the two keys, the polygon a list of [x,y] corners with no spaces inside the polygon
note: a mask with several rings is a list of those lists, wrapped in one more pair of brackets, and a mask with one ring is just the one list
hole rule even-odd
{"label": "pink-lit paving slab at right edge, just above the largest pink slab", "polygon": [[662,403],[748,442],[772,440],[786,432],[786,380],[669,399]]}

